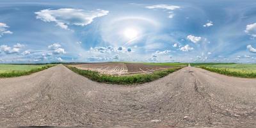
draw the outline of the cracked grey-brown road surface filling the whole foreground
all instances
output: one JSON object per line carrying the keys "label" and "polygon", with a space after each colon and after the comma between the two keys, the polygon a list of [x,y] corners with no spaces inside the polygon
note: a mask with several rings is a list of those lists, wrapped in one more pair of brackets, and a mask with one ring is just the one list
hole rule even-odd
{"label": "cracked grey-brown road surface filling the whole foreground", "polygon": [[256,79],[185,67],[120,86],[58,65],[0,79],[0,126],[256,127]]}

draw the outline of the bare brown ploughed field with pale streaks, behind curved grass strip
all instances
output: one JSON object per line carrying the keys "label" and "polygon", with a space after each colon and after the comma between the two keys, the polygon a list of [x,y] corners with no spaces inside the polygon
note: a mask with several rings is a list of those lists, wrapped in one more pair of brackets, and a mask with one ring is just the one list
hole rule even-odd
{"label": "bare brown ploughed field with pale streaks, behind curved grass strip", "polygon": [[170,66],[158,66],[158,65],[145,65],[143,63],[83,63],[78,65],[72,65],[73,67],[83,70],[94,70],[101,74],[111,75],[129,75],[129,74],[143,74],[150,73],[156,70],[163,70],[171,68]]}

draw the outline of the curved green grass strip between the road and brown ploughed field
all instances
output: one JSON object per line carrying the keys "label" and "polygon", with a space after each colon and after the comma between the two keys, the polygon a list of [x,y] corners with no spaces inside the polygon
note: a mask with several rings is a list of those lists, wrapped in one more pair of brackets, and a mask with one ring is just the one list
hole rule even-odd
{"label": "curved green grass strip between the road and brown ploughed field", "polygon": [[87,77],[92,81],[99,83],[108,84],[142,84],[154,81],[161,77],[167,76],[168,74],[180,70],[183,67],[168,68],[166,70],[159,70],[150,74],[134,74],[131,76],[111,76],[108,74],[100,74],[99,72],[92,70],[81,70],[76,67],[67,66],[73,72],[80,74],[81,76]]}

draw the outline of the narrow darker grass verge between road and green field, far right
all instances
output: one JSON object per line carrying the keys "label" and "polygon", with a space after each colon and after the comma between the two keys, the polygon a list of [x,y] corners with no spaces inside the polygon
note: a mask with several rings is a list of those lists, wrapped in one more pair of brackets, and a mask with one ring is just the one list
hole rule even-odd
{"label": "narrow darker grass verge between road and green field, far right", "polygon": [[230,71],[227,68],[214,68],[214,67],[206,67],[206,66],[198,66],[205,70],[209,70],[211,72],[216,72],[218,74],[223,74],[226,76],[235,76],[235,77],[247,77],[247,78],[255,78],[255,72],[242,72],[242,71]]}

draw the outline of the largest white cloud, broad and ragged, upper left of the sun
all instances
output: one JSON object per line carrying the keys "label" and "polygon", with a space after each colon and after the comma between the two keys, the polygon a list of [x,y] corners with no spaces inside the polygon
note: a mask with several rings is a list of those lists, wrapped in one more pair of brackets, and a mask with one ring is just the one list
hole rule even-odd
{"label": "largest white cloud, broad and ragged, upper left of the sun", "polygon": [[36,13],[36,19],[44,22],[56,22],[57,26],[68,29],[68,25],[86,26],[93,22],[93,19],[108,15],[106,10],[79,10],[73,8],[60,8],[58,10],[40,10]]}

